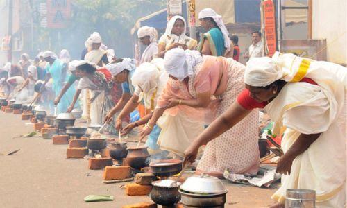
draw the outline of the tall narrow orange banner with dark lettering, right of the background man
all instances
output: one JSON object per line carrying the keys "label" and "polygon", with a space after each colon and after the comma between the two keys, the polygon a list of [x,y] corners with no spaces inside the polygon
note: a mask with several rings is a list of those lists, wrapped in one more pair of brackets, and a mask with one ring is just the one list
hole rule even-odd
{"label": "tall narrow orange banner with dark lettering, right of the background man", "polygon": [[267,55],[271,57],[276,51],[276,21],[275,7],[272,0],[262,2],[262,10],[264,13],[264,38],[266,40]]}

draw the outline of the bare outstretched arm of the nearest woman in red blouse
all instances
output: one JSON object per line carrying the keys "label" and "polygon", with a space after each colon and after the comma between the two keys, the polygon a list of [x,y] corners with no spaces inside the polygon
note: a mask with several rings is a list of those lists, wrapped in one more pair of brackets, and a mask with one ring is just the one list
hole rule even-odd
{"label": "bare outstretched arm of the nearest woman in red blouse", "polygon": [[185,162],[194,162],[196,155],[198,154],[198,148],[204,144],[208,144],[212,139],[217,138],[234,125],[242,121],[251,110],[246,110],[239,103],[234,102],[232,105],[214,120],[211,125],[206,128],[201,135],[196,138],[193,143],[185,150]]}

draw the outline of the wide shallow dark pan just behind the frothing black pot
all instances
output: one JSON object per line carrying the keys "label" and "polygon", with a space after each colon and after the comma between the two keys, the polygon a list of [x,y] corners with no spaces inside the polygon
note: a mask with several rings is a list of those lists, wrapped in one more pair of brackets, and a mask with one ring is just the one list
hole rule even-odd
{"label": "wide shallow dark pan just behind the frothing black pot", "polygon": [[149,164],[151,172],[160,177],[176,175],[182,171],[182,160],[162,159]]}

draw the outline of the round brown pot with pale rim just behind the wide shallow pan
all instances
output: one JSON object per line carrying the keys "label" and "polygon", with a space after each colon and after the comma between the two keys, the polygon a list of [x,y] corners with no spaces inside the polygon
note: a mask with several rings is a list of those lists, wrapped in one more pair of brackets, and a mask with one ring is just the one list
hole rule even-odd
{"label": "round brown pot with pale rim just behind the wide shallow pan", "polygon": [[130,167],[141,169],[147,166],[148,157],[149,152],[147,151],[147,147],[128,148],[126,161],[128,162]]}

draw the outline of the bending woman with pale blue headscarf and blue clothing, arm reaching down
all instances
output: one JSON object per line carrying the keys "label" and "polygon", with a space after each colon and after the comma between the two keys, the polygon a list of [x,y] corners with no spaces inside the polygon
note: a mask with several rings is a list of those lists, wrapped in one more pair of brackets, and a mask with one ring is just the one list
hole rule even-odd
{"label": "bending woman with pale blue headscarf and blue clothing, arm reaching down", "polygon": [[[105,116],[104,122],[109,123],[113,120],[115,114],[124,108],[131,96],[135,93],[135,86],[131,80],[136,69],[135,60],[130,58],[119,58],[115,63],[108,64],[106,69],[112,74],[112,80],[115,83],[121,84],[121,89],[123,91],[115,107]],[[123,121],[128,121],[128,117]]]}

